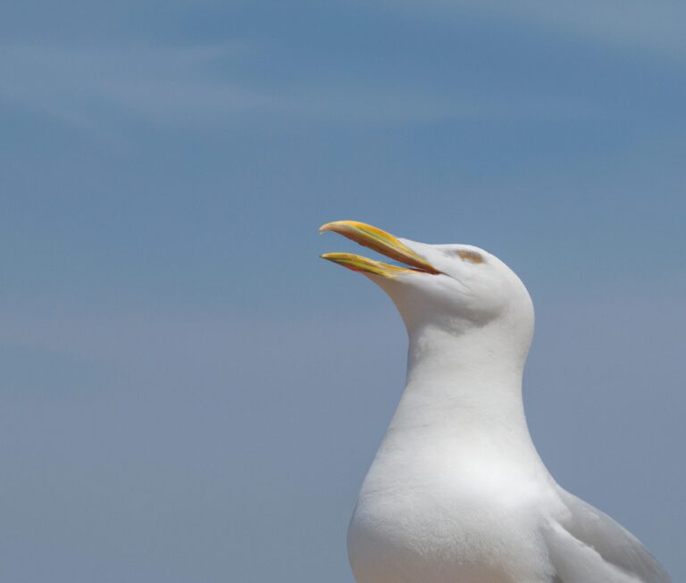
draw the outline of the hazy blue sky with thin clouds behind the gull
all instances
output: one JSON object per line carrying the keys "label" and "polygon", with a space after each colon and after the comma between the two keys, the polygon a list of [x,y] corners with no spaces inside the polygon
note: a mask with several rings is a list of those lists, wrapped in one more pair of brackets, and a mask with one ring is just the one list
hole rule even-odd
{"label": "hazy blue sky with thin clouds behind the gull", "polygon": [[686,580],[686,4],[24,0],[0,79],[0,579],[353,583],[356,219],[522,277],[540,454]]}

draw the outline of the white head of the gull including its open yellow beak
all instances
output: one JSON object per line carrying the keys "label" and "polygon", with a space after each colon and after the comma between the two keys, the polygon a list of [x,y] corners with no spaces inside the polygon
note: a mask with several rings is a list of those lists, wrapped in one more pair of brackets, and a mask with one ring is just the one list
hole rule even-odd
{"label": "white head of the gull including its open yellow beak", "polygon": [[429,245],[358,221],[334,221],[333,231],[397,263],[349,253],[322,257],[359,271],[386,291],[410,336],[426,329],[450,336],[495,332],[510,346],[528,352],[533,306],[522,280],[495,255],[470,245]]}

